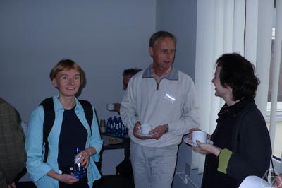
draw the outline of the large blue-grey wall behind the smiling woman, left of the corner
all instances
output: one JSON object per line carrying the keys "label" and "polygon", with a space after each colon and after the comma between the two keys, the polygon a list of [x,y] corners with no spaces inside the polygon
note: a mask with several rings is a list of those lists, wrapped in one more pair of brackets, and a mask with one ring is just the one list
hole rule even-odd
{"label": "large blue-grey wall behind the smiling woman, left of the corner", "polygon": [[0,96],[28,121],[42,99],[57,93],[49,71],[61,59],[84,69],[80,98],[99,119],[115,115],[106,103],[123,97],[122,71],[150,62],[156,1],[0,1]]}

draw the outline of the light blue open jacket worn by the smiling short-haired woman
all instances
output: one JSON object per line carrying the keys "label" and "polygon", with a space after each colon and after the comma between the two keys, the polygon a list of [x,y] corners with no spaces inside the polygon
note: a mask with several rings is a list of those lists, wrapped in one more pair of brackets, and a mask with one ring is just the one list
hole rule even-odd
{"label": "light blue open jacket worn by the smiling short-haired woman", "polygon": [[[35,182],[35,184],[39,188],[59,187],[58,181],[47,175],[47,172],[49,172],[49,170],[51,169],[55,172],[60,173],[57,158],[64,109],[57,97],[58,96],[53,97],[55,121],[48,136],[49,153],[47,163],[43,163],[44,153],[42,153],[42,151],[44,151],[44,146],[42,145],[44,109],[42,105],[37,107],[32,112],[27,129],[27,137],[25,140],[25,148],[27,151],[27,171],[29,172],[32,181]],[[88,184],[89,187],[92,187],[94,180],[97,180],[101,177],[96,165],[94,164],[94,161],[99,161],[99,152],[101,151],[103,141],[99,134],[99,127],[96,115],[93,114],[92,126],[90,130],[90,127],[85,118],[84,109],[82,105],[80,105],[80,102],[78,102],[77,98],[75,98],[75,103],[75,113],[78,116],[78,119],[80,119],[80,122],[87,130],[88,136],[85,148],[94,147],[97,151],[97,154],[92,155],[92,157],[90,158],[90,163],[87,168]]]}

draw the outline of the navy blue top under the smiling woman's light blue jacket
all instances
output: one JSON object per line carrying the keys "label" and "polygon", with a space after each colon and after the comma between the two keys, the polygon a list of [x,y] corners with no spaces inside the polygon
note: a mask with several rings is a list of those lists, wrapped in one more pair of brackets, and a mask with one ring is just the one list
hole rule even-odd
{"label": "navy blue top under the smiling woman's light blue jacket", "polygon": [[75,107],[63,112],[59,138],[58,165],[60,170],[73,166],[75,148],[85,149],[87,131],[75,114]]}

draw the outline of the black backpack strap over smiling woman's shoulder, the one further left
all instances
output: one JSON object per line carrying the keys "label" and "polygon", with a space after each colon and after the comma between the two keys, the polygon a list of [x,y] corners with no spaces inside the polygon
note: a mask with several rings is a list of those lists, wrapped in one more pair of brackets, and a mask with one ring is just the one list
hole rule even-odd
{"label": "black backpack strap over smiling woman's shoulder, the one further left", "polygon": [[45,146],[45,153],[43,162],[47,162],[47,156],[49,151],[49,143],[48,136],[53,127],[55,121],[55,110],[54,110],[54,102],[53,98],[46,98],[43,100],[40,105],[43,106],[44,109],[44,122],[43,122],[43,143]]}

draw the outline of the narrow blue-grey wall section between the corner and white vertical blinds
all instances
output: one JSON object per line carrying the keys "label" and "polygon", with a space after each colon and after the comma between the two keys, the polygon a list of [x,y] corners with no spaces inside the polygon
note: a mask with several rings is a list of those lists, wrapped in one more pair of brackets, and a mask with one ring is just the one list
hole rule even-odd
{"label": "narrow blue-grey wall section between the corner and white vertical blinds", "polygon": [[157,0],[157,30],[168,30],[177,38],[175,64],[195,78],[197,0]]}

